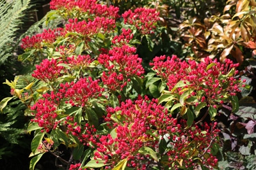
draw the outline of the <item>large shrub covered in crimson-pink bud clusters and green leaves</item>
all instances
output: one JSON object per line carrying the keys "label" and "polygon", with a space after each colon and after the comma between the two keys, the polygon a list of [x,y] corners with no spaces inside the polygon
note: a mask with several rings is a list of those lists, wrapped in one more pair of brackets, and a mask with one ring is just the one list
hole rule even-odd
{"label": "large shrub covered in crimson-pink bud clusters and green leaves", "polygon": [[[22,40],[19,59],[38,64],[35,81],[23,89],[6,81],[32,117],[30,169],[46,152],[70,170],[218,166],[214,118],[223,103],[237,110],[238,64],[162,55],[145,73],[136,47],[161,27],[156,10],[137,8],[120,19],[118,8],[93,0],[51,1],[51,8],[63,28]],[[62,145],[68,160],[58,155]]]}

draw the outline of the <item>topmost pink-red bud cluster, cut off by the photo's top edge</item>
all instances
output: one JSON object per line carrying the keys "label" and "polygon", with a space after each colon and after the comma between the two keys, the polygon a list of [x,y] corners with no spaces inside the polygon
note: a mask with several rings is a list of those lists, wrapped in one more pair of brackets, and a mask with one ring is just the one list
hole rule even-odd
{"label": "topmost pink-red bud cluster, cut off by the photo's top edge", "polygon": [[88,13],[89,17],[93,15],[99,17],[117,18],[119,8],[115,6],[106,6],[97,4],[96,0],[52,0],[50,3],[52,10],[66,10],[72,12],[74,9],[81,10],[82,13]]}

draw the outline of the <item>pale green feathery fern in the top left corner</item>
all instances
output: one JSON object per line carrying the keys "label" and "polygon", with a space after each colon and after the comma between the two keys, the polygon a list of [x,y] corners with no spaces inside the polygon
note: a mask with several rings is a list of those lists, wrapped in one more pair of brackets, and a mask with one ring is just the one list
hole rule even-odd
{"label": "pale green feathery fern in the top left corner", "polygon": [[29,3],[30,0],[0,0],[0,66],[12,55],[11,52],[17,45],[13,43],[13,39]]}

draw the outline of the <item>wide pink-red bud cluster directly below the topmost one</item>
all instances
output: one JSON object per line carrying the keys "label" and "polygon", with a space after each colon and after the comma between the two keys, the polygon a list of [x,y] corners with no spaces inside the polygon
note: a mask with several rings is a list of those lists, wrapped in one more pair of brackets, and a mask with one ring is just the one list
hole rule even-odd
{"label": "wide pink-red bud cluster directly below the topmost one", "polygon": [[89,20],[88,22],[85,20],[78,22],[77,18],[75,18],[74,20],[69,19],[68,22],[70,23],[65,25],[65,31],[77,32],[86,36],[86,38],[99,32],[106,33],[112,31],[115,27],[115,20],[105,17],[96,17],[93,21]]}

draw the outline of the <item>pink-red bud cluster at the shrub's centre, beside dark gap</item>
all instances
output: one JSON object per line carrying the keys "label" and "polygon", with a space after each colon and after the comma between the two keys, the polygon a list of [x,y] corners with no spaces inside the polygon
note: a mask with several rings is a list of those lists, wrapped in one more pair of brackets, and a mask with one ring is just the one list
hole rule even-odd
{"label": "pink-red bud cluster at the shrub's centre, beside dark gap", "polygon": [[142,59],[134,55],[136,48],[123,45],[113,47],[108,53],[99,55],[99,63],[108,71],[102,74],[102,81],[111,90],[122,90],[132,76],[141,76],[144,69]]}

